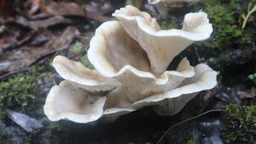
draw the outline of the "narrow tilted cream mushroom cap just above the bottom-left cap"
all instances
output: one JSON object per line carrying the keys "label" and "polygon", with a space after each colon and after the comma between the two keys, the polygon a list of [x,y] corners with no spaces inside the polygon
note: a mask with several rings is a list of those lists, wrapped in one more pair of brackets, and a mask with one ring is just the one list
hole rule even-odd
{"label": "narrow tilted cream mushroom cap just above the bottom-left cap", "polygon": [[112,90],[114,87],[120,86],[120,83],[103,77],[98,71],[90,70],[82,63],[70,61],[61,55],[54,58],[53,66],[62,78],[85,90]]}

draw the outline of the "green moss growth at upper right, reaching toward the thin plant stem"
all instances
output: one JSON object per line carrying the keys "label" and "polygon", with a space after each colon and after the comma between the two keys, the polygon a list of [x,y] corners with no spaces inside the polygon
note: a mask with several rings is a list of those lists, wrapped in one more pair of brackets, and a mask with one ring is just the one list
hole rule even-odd
{"label": "green moss growth at upper right, reaching toward the thin plant stem", "polygon": [[252,33],[247,30],[240,30],[242,24],[240,15],[237,13],[237,6],[238,4],[241,5],[241,3],[242,1],[240,0],[230,0],[230,2],[222,0],[205,1],[203,11],[208,14],[214,32],[212,38],[196,44],[212,49],[211,51],[214,55],[236,46],[245,47],[248,45],[251,41]]}

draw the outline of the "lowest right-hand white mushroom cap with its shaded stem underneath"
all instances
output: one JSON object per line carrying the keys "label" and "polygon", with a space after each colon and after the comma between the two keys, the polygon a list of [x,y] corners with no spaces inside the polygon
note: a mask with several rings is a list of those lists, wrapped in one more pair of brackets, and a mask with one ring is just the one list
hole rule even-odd
{"label": "lowest right-hand white mushroom cap with its shaded stem underneath", "polygon": [[178,88],[162,94],[154,94],[141,101],[134,102],[134,108],[154,106],[154,110],[160,115],[177,114],[198,92],[210,90],[216,86],[217,72],[206,64],[198,64],[194,67],[195,75],[186,78]]}

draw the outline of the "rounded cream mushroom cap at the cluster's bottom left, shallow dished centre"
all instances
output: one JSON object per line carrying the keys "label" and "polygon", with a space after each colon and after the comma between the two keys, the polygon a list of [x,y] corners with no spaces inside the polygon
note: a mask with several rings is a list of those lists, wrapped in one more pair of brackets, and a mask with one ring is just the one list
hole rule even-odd
{"label": "rounded cream mushroom cap at the cluster's bottom left, shallow dished centre", "polygon": [[106,97],[89,94],[68,81],[51,88],[43,110],[50,121],[67,118],[73,122],[96,121],[102,116]]}

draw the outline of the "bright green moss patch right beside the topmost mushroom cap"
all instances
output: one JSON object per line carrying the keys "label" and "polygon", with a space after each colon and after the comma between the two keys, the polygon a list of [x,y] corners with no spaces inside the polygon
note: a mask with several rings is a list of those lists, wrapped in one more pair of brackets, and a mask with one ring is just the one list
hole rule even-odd
{"label": "bright green moss patch right beside the topmost mushroom cap", "polygon": [[214,32],[212,38],[205,42],[197,42],[199,46],[214,49],[216,54],[233,47],[234,39],[242,38],[242,31],[238,29],[238,17],[235,5],[223,3],[221,0],[209,0],[205,2],[203,11],[208,14]]}

